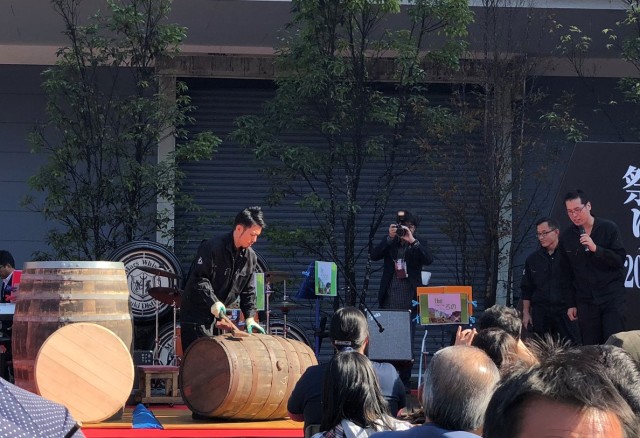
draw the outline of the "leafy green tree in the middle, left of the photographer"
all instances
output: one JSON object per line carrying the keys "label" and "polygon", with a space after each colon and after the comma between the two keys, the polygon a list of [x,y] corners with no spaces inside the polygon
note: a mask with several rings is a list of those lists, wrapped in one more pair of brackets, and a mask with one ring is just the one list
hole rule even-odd
{"label": "leafy green tree in the middle, left of the photographer", "polygon": [[[362,205],[373,204],[364,231],[370,246],[396,178],[426,159],[418,147],[429,105],[424,53],[447,68],[457,65],[472,18],[463,0],[408,3],[407,29],[390,32],[385,27],[401,12],[399,0],[293,0],[277,51],[276,95],[261,114],[236,120],[231,135],[265,164],[270,202],[293,198],[316,218],[299,235],[270,231],[271,243],[286,249],[313,236],[304,240],[306,253],[335,261],[352,284],[356,255],[368,253],[355,248]],[[436,36],[446,41],[437,51]],[[374,161],[384,164],[371,174]],[[365,172],[374,200],[362,197]]]}

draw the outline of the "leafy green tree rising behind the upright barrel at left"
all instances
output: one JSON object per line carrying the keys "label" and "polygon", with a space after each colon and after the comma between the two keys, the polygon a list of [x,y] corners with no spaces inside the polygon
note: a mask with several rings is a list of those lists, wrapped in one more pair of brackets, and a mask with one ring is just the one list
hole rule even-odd
{"label": "leafy green tree rising behind the upright barrel at left", "polygon": [[[172,213],[157,211],[158,200],[191,209],[178,165],[211,159],[220,139],[188,135],[185,85],[163,82],[153,68],[185,36],[167,23],[170,0],[109,0],[109,13],[88,18],[80,3],[52,1],[68,45],[43,73],[48,120],[30,136],[34,150],[49,152],[29,180],[44,201],[25,204],[52,222],[55,257],[99,260],[125,242],[171,234]],[[159,143],[176,141],[174,153],[158,156]]]}

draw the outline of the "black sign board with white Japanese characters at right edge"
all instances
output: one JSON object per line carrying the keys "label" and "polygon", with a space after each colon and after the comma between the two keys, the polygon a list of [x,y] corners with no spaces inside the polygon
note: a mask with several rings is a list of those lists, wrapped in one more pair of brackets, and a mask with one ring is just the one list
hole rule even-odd
{"label": "black sign board with white Japanese characters at right edge", "polygon": [[582,142],[574,147],[556,195],[553,217],[560,229],[571,222],[564,195],[575,189],[589,197],[592,213],[613,220],[627,250],[627,330],[640,329],[640,143]]}

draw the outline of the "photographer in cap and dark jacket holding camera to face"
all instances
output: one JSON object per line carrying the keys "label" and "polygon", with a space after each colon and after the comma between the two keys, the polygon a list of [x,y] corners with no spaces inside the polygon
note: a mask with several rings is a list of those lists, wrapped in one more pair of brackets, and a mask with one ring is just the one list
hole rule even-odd
{"label": "photographer in cap and dark jacket holding camera to face", "polygon": [[[378,291],[380,309],[411,310],[411,340],[415,334],[414,317],[417,308],[416,288],[422,286],[422,266],[430,265],[433,256],[426,242],[414,236],[419,224],[418,218],[410,211],[398,212],[396,223],[389,225],[389,234],[371,251],[371,260],[384,259],[382,280]],[[408,388],[411,368],[400,370],[400,376]]]}

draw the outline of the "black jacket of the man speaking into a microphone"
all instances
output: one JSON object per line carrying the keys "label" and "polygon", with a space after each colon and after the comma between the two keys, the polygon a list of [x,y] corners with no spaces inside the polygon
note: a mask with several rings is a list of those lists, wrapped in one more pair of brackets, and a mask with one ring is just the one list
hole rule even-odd
{"label": "black jacket of the man speaking into a microphone", "polygon": [[584,250],[579,227],[571,225],[560,234],[561,271],[572,285],[566,295],[569,307],[576,307],[577,302],[603,304],[625,296],[627,252],[618,226],[596,217],[590,236],[596,252]]}

